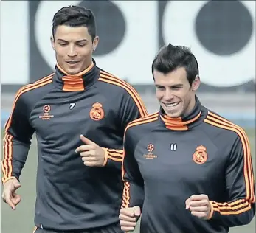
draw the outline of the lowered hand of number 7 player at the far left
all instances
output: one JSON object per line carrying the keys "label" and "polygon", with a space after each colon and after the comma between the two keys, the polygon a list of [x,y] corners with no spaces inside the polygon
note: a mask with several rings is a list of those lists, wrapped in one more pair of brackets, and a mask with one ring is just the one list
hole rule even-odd
{"label": "lowered hand of number 7 player at the far left", "polygon": [[10,179],[4,183],[4,190],[1,198],[6,202],[13,210],[15,206],[21,202],[21,196],[15,193],[15,191],[21,187],[21,184],[16,178]]}

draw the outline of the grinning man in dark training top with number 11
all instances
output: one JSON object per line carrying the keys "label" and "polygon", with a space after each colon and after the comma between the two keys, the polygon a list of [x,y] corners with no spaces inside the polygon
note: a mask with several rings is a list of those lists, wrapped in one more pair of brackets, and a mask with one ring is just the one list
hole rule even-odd
{"label": "grinning man in dark training top with number 11", "polygon": [[160,111],[125,130],[120,225],[140,233],[226,233],[255,215],[249,140],[201,105],[190,49],[165,46],[153,60]]}

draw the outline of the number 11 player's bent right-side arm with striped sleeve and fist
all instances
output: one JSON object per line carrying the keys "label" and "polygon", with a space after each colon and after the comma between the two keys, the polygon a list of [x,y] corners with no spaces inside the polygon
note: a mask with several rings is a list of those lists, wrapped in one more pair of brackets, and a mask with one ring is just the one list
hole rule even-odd
{"label": "number 11 player's bent right-side arm with striped sleeve and fist", "polygon": [[[229,227],[246,225],[255,215],[255,180],[246,133],[235,140],[225,176],[230,201],[219,203],[207,195],[192,195],[186,208],[198,218],[218,220]],[[204,211],[197,212],[198,208]]]}

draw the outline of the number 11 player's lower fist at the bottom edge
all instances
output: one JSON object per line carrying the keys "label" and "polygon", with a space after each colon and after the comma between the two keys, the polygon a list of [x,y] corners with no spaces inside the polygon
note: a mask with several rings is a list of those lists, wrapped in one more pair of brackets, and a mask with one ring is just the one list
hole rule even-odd
{"label": "number 11 player's lower fist at the bottom edge", "polygon": [[134,231],[138,218],[141,215],[139,206],[120,209],[120,226],[124,232]]}

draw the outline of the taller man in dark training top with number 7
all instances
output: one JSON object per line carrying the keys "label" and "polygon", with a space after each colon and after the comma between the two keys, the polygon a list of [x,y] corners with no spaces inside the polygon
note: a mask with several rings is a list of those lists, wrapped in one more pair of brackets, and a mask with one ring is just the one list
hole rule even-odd
{"label": "taller man in dark training top with number 7", "polygon": [[134,88],[92,59],[99,38],[91,10],[60,9],[51,41],[55,72],[18,91],[5,125],[2,198],[13,209],[21,201],[36,133],[35,232],[120,233],[123,135],[147,111]]}

